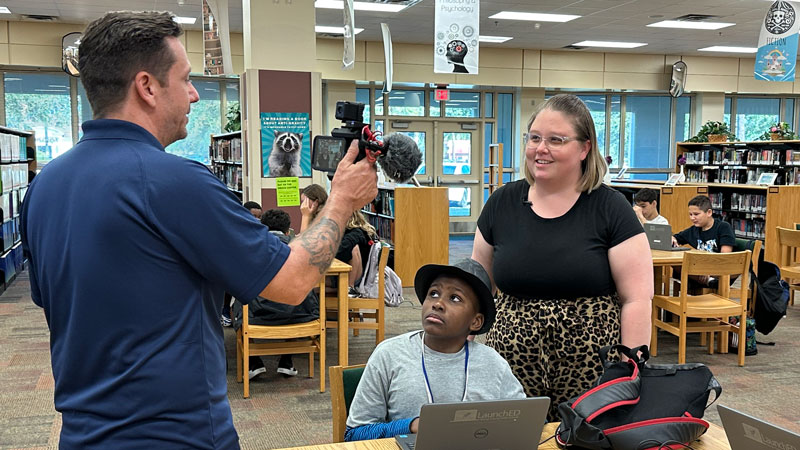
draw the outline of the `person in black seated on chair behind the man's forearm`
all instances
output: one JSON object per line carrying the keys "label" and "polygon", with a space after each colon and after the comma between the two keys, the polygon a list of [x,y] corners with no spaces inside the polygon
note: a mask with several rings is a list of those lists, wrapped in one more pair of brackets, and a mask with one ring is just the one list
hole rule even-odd
{"label": "person in black seated on chair behind the man's forearm", "polygon": [[[269,232],[281,240],[284,244],[289,243],[289,227],[292,219],[289,214],[280,209],[269,209],[261,216],[261,223],[269,228]],[[256,298],[248,303],[248,323],[250,325],[289,325],[293,323],[305,323],[319,318],[319,299],[313,291],[309,292],[303,303],[297,306],[275,303],[265,298]],[[238,330],[242,326],[242,305],[236,302],[234,305],[234,327]],[[250,357],[250,379],[265,373],[267,368],[259,356]],[[278,361],[278,373],[293,377],[297,375],[297,369],[292,363],[292,355],[281,355]]]}

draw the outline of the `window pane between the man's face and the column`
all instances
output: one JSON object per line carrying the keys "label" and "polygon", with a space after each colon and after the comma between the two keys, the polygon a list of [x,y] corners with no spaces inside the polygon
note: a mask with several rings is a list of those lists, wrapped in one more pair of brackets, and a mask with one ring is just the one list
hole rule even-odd
{"label": "window pane between the man's face and the column", "polygon": [[208,146],[211,135],[222,132],[220,84],[218,81],[193,81],[192,84],[197,89],[200,100],[191,106],[189,124],[186,126],[187,136],[169,145],[166,150],[174,155],[209,164]]}

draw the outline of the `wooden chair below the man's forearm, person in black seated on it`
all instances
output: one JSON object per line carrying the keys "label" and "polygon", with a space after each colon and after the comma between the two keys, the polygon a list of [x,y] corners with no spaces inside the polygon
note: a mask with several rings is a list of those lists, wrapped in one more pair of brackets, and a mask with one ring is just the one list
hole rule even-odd
{"label": "wooden chair below the man's forearm, person in black seated on it", "polygon": [[[320,296],[319,310],[325,311]],[[236,381],[244,380],[244,398],[250,397],[250,357],[308,353],[308,376],[314,377],[314,353],[319,353],[319,391],[325,392],[325,321],[290,325],[250,325],[248,307],[242,307],[242,326],[236,331]],[[250,342],[267,339],[272,342]],[[278,340],[278,341],[276,341]]]}

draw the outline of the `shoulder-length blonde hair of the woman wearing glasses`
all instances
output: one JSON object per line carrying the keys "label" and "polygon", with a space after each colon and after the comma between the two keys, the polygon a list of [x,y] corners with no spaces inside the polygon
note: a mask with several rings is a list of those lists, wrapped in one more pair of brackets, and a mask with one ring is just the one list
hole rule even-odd
{"label": "shoulder-length blonde hair of the woman wearing glasses", "polygon": [[[544,111],[558,111],[567,116],[572,122],[572,128],[575,129],[575,135],[578,141],[589,141],[589,153],[586,158],[581,162],[581,178],[578,181],[578,188],[581,192],[591,193],[593,190],[600,187],[603,183],[603,177],[608,171],[606,159],[600,154],[597,148],[597,132],[594,129],[594,120],[589,108],[583,103],[581,99],[571,94],[554,95],[542,103],[536,111],[534,111],[530,120],[528,120],[528,128],[525,129],[527,133],[531,129],[533,121],[536,116]],[[525,174],[525,179],[528,183],[533,185],[535,180],[533,175],[528,170],[528,162],[522,166],[522,172]]]}

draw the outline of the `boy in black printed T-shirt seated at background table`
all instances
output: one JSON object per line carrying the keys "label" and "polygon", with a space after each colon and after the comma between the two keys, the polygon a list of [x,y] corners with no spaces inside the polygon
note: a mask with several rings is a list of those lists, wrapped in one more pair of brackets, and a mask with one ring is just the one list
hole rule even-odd
{"label": "boy in black printed T-shirt seated at background table", "polygon": [[[689,200],[689,220],[692,226],[672,236],[672,245],[689,244],[692,248],[712,253],[730,253],[736,243],[733,228],[724,220],[714,219],[711,199],[698,195]],[[715,281],[708,276],[692,277],[704,286],[714,287]]]}

